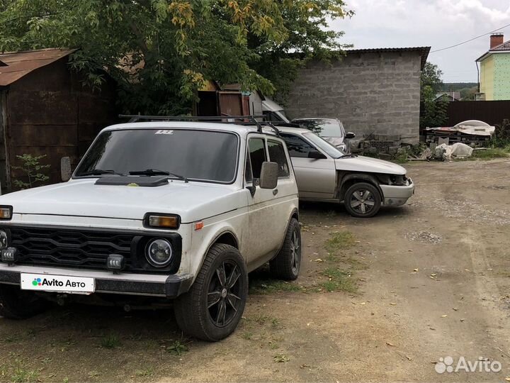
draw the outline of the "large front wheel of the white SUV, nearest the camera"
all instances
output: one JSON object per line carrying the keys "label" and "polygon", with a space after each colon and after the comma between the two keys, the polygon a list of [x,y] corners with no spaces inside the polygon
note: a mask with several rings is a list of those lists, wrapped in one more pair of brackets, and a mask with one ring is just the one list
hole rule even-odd
{"label": "large front wheel of the white SUV, nearest the camera", "polygon": [[239,250],[212,245],[191,289],[176,299],[175,316],[187,335],[215,342],[234,332],[248,296],[248,272]]}

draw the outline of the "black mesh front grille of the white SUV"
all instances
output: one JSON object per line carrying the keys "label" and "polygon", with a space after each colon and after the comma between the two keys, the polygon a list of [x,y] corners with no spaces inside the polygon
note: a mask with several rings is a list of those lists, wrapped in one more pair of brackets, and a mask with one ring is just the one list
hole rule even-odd
{"label": "black mesh front grille of the white SUV", "polygon": [[111,254],[125,257],[131,265],[131,243],[135,235],[87,231],[86,229],[11,228],[11,245],[18,249],[24,265],[74,266],[106,269]]}

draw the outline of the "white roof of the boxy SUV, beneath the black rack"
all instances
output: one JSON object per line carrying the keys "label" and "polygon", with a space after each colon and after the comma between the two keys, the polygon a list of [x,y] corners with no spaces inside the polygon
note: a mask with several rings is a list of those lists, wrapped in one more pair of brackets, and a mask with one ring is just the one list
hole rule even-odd
{"label": "white roof of the boxy SUV, beneath the black rack", "polygon": [[[236,123],[211,123],[198,121],[146,121],[134,123],[118,123],[116,125],[107,126],[103,131],[124,131],[132,129],[203,129],[204,131],[225,131],[234,132],[239,135],[248,133],[256,133],[255,125],[238,125]],[[265,134],[273,134],[273,131],[264,130]]]}

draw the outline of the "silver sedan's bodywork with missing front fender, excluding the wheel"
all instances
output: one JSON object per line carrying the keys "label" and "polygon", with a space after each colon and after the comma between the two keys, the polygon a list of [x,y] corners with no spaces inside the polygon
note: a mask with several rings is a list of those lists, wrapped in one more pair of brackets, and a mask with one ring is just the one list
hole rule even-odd
{"label": "silver sedan's bodywork with missing front fender, excluding the wheel", "polygon": [[[373,184],[382,206],[401,206],[414,194],[414,184],[400,165],[371,157],[344,155],[307,129],[283,126],[279,129],[293,161],[300,199],[304,201],[344,201],[347,185],[350,187],[354,182]],[[296,140],[295,145],[291,137]],[[310,148],[301,145],[297,138],[319,152],[322,158],[307,157],[306,151]]]}

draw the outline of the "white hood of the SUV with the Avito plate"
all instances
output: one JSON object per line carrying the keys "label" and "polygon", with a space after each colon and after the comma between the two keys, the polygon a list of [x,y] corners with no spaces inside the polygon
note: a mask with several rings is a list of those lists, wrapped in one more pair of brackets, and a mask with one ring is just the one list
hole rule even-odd
{"label": "white hood of the SUV with the Avito plate", "polygon": [[0,196],[13,214],[45,214],[142,220],[145,213],[174,213],[183,223],[199,221],[242,206],[232,185],[171,181],[159,187],[96,185],[73,179]]}

